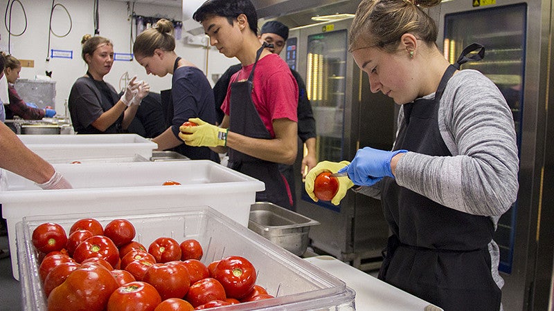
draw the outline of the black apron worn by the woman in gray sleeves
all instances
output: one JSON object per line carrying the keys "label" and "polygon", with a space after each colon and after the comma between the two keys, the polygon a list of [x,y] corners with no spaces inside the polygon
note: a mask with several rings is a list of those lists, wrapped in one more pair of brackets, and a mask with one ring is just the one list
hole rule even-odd
{"label": "black apron worn by the woman in gray sleeves", "polygon": [[[479,54],[465,57],[476,48],[481,48]],[[440,97],[460,65],[483,54],[483,46],[468,46],[447,68],[434,100],[418,99],[402,106],[404,122],[395,150],[452,156],[438,127]],[[499,310],[501,290],[492,279],[488,251],[494,233],[489,217],[450,209],[388,177],[382,205],[392,235],[379,279],[444,310]]]}

